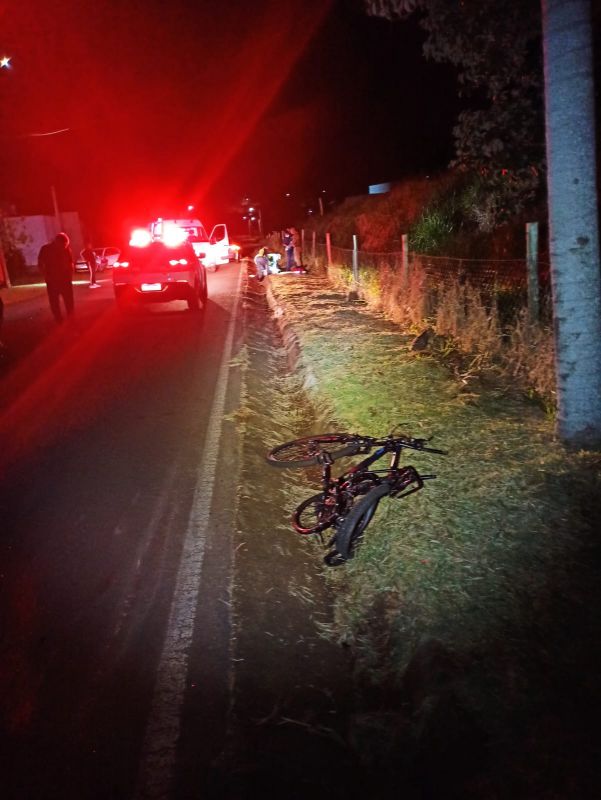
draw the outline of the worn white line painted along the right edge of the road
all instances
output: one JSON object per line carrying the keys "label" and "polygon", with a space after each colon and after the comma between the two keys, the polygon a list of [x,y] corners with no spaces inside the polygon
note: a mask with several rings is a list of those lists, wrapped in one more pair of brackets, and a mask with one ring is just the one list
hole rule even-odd
{"label": "worn white line painted along the right edge of the road", "polygon": [[240,270],[238,273],[236,296],[221,357],[213,406],[207,424],[203,457],[198,468],[165,643],[146,725],[135,792],[137,800],[159,800],[159,798],[167,800],[170,797],[186,690],[188,658],[192,645],[202,562],[219,456],[242,272]]}

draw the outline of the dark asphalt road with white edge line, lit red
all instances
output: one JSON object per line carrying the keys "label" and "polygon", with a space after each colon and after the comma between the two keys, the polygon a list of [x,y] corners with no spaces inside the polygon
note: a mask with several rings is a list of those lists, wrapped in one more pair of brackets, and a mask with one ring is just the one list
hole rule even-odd
{"label": "dark asphalt road with white edge line, lit red", "polygon": [[73,325],[7,306],[3,798],[194,796],[223,748],[239,275],[209,274],[201,315],[119,314],[106,274]]}

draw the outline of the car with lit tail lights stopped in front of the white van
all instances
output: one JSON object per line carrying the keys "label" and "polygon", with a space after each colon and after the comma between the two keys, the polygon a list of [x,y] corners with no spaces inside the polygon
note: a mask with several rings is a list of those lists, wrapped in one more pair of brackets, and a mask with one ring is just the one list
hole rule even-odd
{"label": "car with lit tail lights stopped in front of the white van", "polygon": [[207,275],[192,245],[185,241],[169,246],[149,241],[135,244],[135,238],[115,262],[113,287],[120,307],[138,303],[166,303],[185,300],[191,311],[207,302]]}

